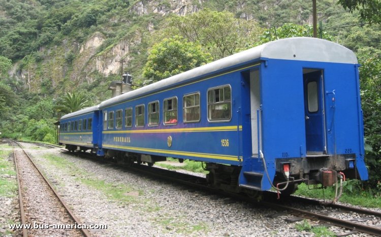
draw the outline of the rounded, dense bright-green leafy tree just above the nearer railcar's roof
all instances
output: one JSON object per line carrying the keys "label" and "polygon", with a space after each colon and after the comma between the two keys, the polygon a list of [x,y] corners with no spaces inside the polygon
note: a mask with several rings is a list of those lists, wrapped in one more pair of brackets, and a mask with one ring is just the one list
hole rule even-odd
{"label": "rounded, dense bright-green leafy tree just above the nearer railcar's roof", "polygon": [[204,53],[200,44],[175,36],[153,45],[143,68],[143,76],[148,80],[160,81],[211,60],[210,54]]}

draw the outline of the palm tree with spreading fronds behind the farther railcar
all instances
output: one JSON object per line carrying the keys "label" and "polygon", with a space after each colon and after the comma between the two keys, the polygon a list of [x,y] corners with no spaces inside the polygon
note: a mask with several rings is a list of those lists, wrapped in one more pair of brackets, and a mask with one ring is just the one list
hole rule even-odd
{"label": "palm tree with spreading fronds behind the farther railcar", "polygon": [[58,99],[55,110],[60,113],[69,114],[81,110],[90,105],[90,101],[83,93],[67,92],[65,96]]}

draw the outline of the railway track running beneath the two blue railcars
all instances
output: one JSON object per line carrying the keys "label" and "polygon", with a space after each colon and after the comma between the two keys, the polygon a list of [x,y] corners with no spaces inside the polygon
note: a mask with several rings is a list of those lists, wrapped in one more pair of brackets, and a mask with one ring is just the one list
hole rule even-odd
{"label": "railway track running beneath the two blue railcars", "polygon": [[[62,150],[68,154],[74,154],[80,157],[86,157],[94,159],[94,156],[90,153],[70,153],[66,150]],[[105,162],[104,159],[98,159]],[[118,164],[115,162],[110,162],[115,165],[115,167],[120,168]],[[281,199],[280,201],[276,199],[276,193],[273,192],[265,192],[263,199],[266,201],[258,202],[257,200],[253,200],[246,195],[240,195],[235,193],[224,192],[222,190],[218,190],[208,186],[208,183],[205,178],[187,175],[179,172],[173,172],[164,170],[163,168],[157,167],[149,167],[147,165],[138,165],[134,163],[131,166],[125,167],[129,171],[136,172],[138,174],[144,174],[149,177],[160,178],[163,180],[167,180],[171,183],[179,183],[184,184],[198,190],[203,190],[210,192],[212,194],[220,194],[229,196],[237,201],[245,201],[249,202],[252,205],[258,207],[267,207],[271,209],[275,209],[279,212],[287,212],[288,214],[292,214],[296,217],[294,220],[301,219],[311,219],[311,220],[320,220],[321,222],[327,223],[329,225],[339,226],[348,230],[350,232],[345,233],[336,233],[337,236],[345,236],[348,234],[354,233],[368,233],[375,236],[381,236],[381,212],[370,211],[362,208],[348,207],[339,204],[325,204],[321,201],[317,201],[314,199],[290,196],[290,198]],[[303,204],[303,208],[301,208],[300,204]],[[311,211],[312,210],[312,211]],[[322,210],[321,212],[316,210]],[[360,216],[359,218],[351,218],[349,214],[357,214]],[[348,215],[345,215],[348,214]],[[342,216],[343,218],[340,218]],[[345,219],[344,219],[345,218]],[[376,222],[375,225],[367,225],[365,222]],[[375,221],[374,221],[375,220]],[[293,221],[293,220],[290,220]]]}

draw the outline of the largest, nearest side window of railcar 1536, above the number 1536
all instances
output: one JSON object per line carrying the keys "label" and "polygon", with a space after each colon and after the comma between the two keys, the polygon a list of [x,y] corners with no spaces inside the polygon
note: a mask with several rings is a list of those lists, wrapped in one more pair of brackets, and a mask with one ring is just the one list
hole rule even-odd
{"label": "largest, nearest side window of railcar 1536, above the number 1536", "polygon": [[232,117],[232,98],[230,86],[208,90],[208,120],[226,121]]}

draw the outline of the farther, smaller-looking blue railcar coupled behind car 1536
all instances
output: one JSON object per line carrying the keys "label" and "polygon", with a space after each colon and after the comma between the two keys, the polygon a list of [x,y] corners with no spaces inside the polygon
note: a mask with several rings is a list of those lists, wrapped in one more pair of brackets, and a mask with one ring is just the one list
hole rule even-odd
{"label": "farther, smaller-looking blue railcar coupled behind car 1536", "polygon": [[89,107],[61,117],[59,144],[69,151],[98,149],[99,106]]}

